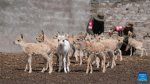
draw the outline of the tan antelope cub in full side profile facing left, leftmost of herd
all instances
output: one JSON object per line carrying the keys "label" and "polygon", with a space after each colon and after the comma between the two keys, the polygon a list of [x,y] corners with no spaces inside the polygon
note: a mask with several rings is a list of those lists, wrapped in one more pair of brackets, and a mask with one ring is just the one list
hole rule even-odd
{"label": "tan antelope cub in full side profile facing left, leftmost of herd", "polygon": [[24,71],[27,71],[29,67],[29,73],[32,72],[32,68],[31,68],[32,55],[42,55],[45,63],[44,63],[43,70],[41,72],[47,70],[48,65],[49,65],[49,73],[52,72],[53,70],[52,59],[50,59],[49,57],[51,49],[48,47],[48,45],[44,43],[26,43],[22,34],[21,36],[16,38],[14,44],[19,45],[23,49],[24,53],[27,54],[27,62]]}

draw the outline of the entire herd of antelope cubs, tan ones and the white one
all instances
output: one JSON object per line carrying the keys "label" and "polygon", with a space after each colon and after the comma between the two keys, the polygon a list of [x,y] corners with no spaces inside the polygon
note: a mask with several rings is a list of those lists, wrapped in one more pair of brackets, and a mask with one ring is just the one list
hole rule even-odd
{"label": "entire herd of antelope cubs, tan ones and the white one", "polygon": [[[128,33],[130,46],[141,50],[141,56],[143,56],[143,50],[146,52],[146,49],[143,48],[143,43],[134,40],[130,31]],[[102,72],[105,73],[106,67],[108,67],[109,64],[111,64],[111,68],[116,66],[115,60],[117,59],[117,56],[120,56],[120,61],[122,61],[120,47],[123,44],[123,39],[124,37],[119,36],[117,38],[105,39],[103,34],[91,36],[85,33],[82,35],[70,36],[69,33],[63,33],[63,35],[60,35],[59,32],[53,38],[48,38],[42,30],[36,38],[37,43],[26,43],[21,34],[21,36],[16,38],[14,44],[19,45],[27,55],[24,71],[29,70],[29,73],[32,72],[32,55],[40,54],[44,58],[44,67],[41,72],[44,72],[49,67],[49,73],[52,73],[53,71],[53,55],[57,56],[57,63],[59,62],[58,72],[64,68],[65,73],[69,72],[71,57],[75,56],[76,61],[78,61],[79,56],[81,65],[82,58],[85,56],[87,58],[86,73],[88,74],[89,67],[91,68],[90,73],[93,72],[93,64],[96,64],[97,68],[100,66]],[[106,53],[109,56],[107,65],[105,65]]]}

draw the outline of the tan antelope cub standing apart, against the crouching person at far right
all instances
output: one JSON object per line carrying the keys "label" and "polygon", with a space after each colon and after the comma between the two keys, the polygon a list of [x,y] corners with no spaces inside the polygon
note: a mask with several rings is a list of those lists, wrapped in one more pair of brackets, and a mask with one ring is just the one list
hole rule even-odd
{"label": "tan antelope cub standing apart, against the crouching person at far right", "polygon": [[130,49],[130,56],[132,56],[132,47],[138,49],[138,50],[141,50],[141,57],[143,56],[143,50],[145,51],[145,54],[147,56],[147,52],[146,52],[146,49],[143,48],[143,43],[142,42],[139,42],[135,39],[132,38],[132,32],[128,32],[128,35],[129,35],[129,38],[128,38],[128,44],[131,46],[131,49]]}

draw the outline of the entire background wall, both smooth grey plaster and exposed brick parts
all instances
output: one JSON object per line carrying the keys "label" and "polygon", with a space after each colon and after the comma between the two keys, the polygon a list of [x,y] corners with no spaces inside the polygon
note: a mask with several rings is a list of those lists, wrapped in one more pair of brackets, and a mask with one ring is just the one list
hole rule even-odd
{"label": "entire background wall, both smooth grey plaster and exposed brick parts", "polygon": [[150,40],[143,36],[150,33],[149,8],[150,0],[0,0],[0,52],[22,51],[13,44],[20,34],[27,42],[36,42],[41,30],[48,37],[56,31],[86,32],[90,16],[97,12],[107,16],[105,32],[113,25],[134,22],[137,40],[148,49]]}

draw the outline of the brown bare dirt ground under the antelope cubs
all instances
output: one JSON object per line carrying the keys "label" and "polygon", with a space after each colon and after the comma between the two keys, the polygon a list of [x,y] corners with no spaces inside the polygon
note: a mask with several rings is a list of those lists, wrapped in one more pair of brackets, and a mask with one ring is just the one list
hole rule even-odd
{"label": "brown bare dirt ground under the antelope cubs", "polygon": [[[113,69],[108,67],[106,73],[93,66],[93,74],[86,74],[86,61],[77,65],[71,59],[70,72],[57,72],[54,65],[51,74],[41,73],[44,60],[33,56],[32,73],[24,72],[26,55],[24,53],[0,53],[0,84],[150,84],[150,56],[123,56],[123,61],[116,61]],[[54,63],[56,57],[54,56]],[[146,82],[138,81],[138,73],[147,72]]]}

